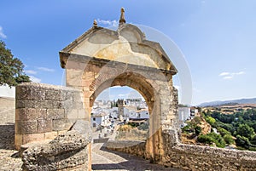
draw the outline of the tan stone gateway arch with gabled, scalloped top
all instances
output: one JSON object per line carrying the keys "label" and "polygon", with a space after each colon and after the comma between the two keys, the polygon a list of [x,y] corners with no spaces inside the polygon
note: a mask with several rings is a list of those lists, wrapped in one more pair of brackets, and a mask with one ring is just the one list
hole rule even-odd
{"label": "tan stone gateway arch with gabled, scalloped top", "polygon": [[[149,138],[144,157],[159,162],[165,148],[163,131],[177,128],[177,73],[160,43],[148,41],[137,26],[121,23],[117,31],[94,25],[60,52],[67,86],[84,94],[87,117],[105,88],[129,86],[148,104]],[[177,136],[173,136],[176,142]]]}

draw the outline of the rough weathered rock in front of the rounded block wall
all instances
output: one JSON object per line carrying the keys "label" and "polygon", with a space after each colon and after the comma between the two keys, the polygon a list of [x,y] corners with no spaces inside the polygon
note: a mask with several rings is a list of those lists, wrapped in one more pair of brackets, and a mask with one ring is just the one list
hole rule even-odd
{"label": "rough weathered rock in front of the rounded block wall", "polygon": [[90,140],[76,130],[58,135],[45,144],[28,145],[22,153],[23,170],[63,170],[88,168]]}

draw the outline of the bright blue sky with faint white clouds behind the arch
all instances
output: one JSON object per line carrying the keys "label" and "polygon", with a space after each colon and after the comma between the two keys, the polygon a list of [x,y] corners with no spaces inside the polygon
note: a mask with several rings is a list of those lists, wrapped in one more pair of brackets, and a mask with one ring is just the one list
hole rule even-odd
{"label": "bright blue sky with faint white clouds behind the arch", "polygon": [[[2,0],[0,39],[33,80],[60,85],[58,52],[90,29],[94,19],[99,26],[116,24],[121,7],[127,23],[152,27],[181,49],[192,77],[192,104],[256,97],[253,0]],[[117,97],[130,91],[110,93]]]}

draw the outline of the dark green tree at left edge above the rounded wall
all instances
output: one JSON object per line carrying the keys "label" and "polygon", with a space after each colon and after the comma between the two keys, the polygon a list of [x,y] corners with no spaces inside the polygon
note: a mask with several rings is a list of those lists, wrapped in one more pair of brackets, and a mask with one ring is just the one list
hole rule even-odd
{"label": "dark green tree at left edge above the rounded wall", "polygon": [[0,40],[0,85],[7,84],[12,87],[19,83],[31,82],[23,71],[21,60],[15,58],[5,46]]}

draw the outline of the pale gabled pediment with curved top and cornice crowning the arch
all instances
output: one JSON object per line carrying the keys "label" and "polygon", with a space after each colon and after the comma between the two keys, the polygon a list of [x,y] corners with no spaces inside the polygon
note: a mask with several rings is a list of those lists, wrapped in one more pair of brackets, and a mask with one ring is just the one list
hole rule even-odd
{"label": "pale gabled pediment with curved top and cornice crowning the arch", "polygon": [[74,57],[79,60],[95,58],[118,61],[172,71],[173,75],[177,73],[160,43],[147,40],[137,26],[123,21],[116,31],[98,25],[92,26],[59,54],[62,68],[66,68],[67,60]]}

